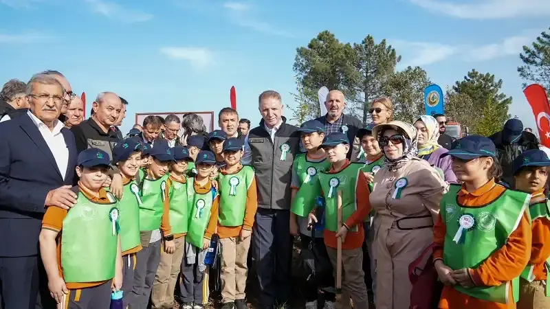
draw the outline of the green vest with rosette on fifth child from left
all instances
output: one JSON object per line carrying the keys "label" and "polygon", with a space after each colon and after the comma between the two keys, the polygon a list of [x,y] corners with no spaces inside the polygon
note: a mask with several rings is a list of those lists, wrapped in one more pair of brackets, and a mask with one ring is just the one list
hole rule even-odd
{"label": "green vest with rosette on fifth child from left", "polygon": [[[194,183],[195,179],[188,179],[188,181]],[[208,227],[208,222],[210,221],[212,203],[218,193],[212,188],[212,190],[205,194],[198,194],[195,192],[195,186],[189,185],[188,194],[192,203],[189,205],[189,227],[185,240],[195,247],[202,248],[204,231],[206,231],[206,227]]]}

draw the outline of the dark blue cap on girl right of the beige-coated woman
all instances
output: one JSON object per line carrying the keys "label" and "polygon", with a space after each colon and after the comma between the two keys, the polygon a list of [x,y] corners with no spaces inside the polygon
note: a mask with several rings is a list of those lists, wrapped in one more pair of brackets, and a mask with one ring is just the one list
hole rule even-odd
{"label": "dark blue cap on girl right of the beige-coated woman", "polygon": [[452,150],[445,152],[441,157],[452,156],[462,160],[471,160],[478,157],[495,157],[496,148],[491,139],[479,135],[468,135],[457,139]]}

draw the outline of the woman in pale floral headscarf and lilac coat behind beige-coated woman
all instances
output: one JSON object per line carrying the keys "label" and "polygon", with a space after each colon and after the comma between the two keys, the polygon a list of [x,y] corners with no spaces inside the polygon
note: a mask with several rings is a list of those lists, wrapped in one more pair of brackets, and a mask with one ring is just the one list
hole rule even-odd
{"label": "woman in pale floral headscarf and lilac coat behind beige-coated woman", "polygon": [[456,176],[452,172],[452,160],[449,156],[441,158],[445,148],[439,146],[439,126],[437,120],[429,115],[421,115],[414,124],[417,129],[418,157],[430,163],[434,168],[439,168],[443,172],[445,181],[456,183]]}

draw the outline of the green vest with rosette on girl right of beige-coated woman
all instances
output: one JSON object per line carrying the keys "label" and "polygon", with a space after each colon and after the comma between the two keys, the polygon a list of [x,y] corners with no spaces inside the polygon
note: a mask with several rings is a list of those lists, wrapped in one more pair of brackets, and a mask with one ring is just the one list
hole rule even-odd
{"label": "green vest with rosette on girl right of beige-coated woman", "polygon": [[[456,194],[460,190],[461,185],[451,184],[449,192],[443,196],[440,203],[439,214],[447,227],[443,262],[452,269],[475,269],[494,251],[506,244],[527,210],[531,196],[523,192],[505,190],[493,203],[483,207],[466,208],[456,202]],[[463,241],[457,244],[453,239],[459,231],[459,220],[464,215],[474,218],[474,224],[470,229],[463,229]],[[478,299],[507,304],[509,284],[513,288],[514,301],[518,301],[519,277],[500,286],[463,288],[456,285],[454,288],[460,293]]]}

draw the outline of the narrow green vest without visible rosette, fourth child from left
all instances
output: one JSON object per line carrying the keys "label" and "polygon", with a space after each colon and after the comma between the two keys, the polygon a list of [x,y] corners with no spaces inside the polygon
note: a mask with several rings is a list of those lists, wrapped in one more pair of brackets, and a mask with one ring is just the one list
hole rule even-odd
{"label": "narrow green vest without visible rosette, fourth child from left", "polygon": [[[186,183],[172,180],[170,187],[170,225],[172,233],[187,233],[189,223],[189,207]],[[192,183],[191,183],[192,185]]]}

